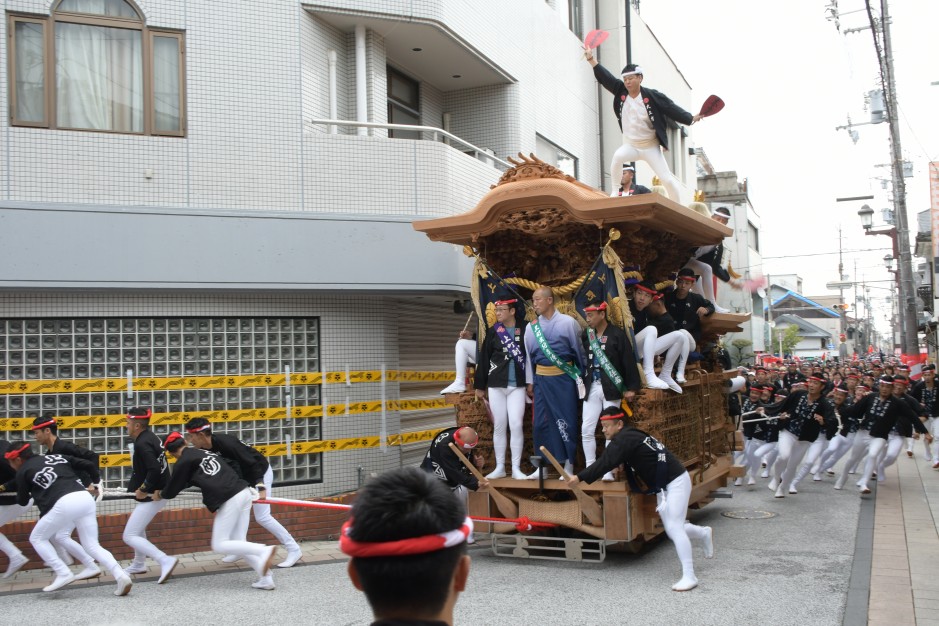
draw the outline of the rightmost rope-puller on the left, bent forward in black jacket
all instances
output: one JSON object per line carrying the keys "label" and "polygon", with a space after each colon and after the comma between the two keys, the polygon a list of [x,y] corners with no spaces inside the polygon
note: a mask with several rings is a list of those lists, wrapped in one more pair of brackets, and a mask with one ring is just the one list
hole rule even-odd
{"label": "rightmost rope-puller on the left, bent forward in black jacket", "polygon": [[[212,425],[209,420],[202,417],[196,417],[186,422],[186,433],[186,439],[195,447],[214,452],[222,458],[232,461],[239,476],[247,481],[249,485],[255,485],[262,498],[269,498],[273,495],[271,491],[274,485],[274,470],[271,469],[271,464],[258,450],[238,439],[238,437],[212,432]],[[287,558],[278,563],[277,567],[293,567],[303,556],[296,540],[271,515],[270,504],[255,504],[251,508],[254,511],[255,521],[277,537],[277,541],[287,549]],[[247,530],[245,528],[245,532]],[[228,555],[222,560],[226,563],[234,563],[238,558],[236,555]]]}

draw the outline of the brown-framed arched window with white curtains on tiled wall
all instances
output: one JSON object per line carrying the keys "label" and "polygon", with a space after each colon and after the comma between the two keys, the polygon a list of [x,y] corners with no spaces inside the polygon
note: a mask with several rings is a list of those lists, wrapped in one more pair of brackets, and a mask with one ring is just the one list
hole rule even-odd
{"label": "brown-framed arched window with white curtains on tiled wall", "polygon": [[185,134],[183,34],[149,28],[127,0],[61,0],[11,15],[17,126]]}

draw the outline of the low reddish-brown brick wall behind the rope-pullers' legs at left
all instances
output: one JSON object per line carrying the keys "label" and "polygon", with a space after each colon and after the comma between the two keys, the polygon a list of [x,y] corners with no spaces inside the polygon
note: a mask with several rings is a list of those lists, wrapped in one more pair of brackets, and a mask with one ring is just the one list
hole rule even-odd
{"label": "low reddish-brown brick wall behind the rope-pullers' legs at left", "polygon": [[[351,504],[354,493],[322,500],[338,504]],[[297,541],[327,541],[337,539],[339,528],[349,514],[340,509],[310,509],[296,506],[273,507],[274,517],[290,531]],[[99,515],[98,541],[111,551],[118,561],[134,557],[134,551],[121,539],[128,513]],[[212,544],[213,515],[205,507],[193,509],[165,509],[153,519],[147,527],[147,538],[167,554],[187,554],[207,552]],[[3,534],[29,557],[23,569],[41,569],[45,567],[42,559],[29,543],[29,534],[36,525],[35,520],[12,522],[3,526]],[[73,534],[77,540],[77,534]],[[252,516],[248,528],[248,541],[272,545],[274,536],[261,528]],[[283,556],[281,554],[280,556]],[[0,568],[6,569],[7,560],[3,557]]]}

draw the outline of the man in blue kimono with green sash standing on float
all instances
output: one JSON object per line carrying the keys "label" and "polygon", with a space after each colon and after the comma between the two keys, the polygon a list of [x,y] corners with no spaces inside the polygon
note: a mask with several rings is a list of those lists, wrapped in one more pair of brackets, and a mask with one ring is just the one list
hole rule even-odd
{"label": "man in blue kimono with green sash standing on float", "polygon": [[[546,447],[570,474],[577,455],[578,399],[587,394],[580,376],[584,371],[580,325],[554,308],[550,287],[535,290],[532,306],[538,319],[525,329],[525,380],[534,402],[532,439],[535,450]],[[537,479],[538,472],[528,478]]]}

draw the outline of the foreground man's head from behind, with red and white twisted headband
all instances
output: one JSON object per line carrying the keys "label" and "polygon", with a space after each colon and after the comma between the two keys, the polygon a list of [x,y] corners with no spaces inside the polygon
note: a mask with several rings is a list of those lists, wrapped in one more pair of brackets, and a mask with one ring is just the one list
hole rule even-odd
{"label": "foreground man's head from behind, with red and white twisted headband", "polygon": [[352,584],[365,593],[374,625],[453,625],[466,589],[473,522],[438,480],[413,467],[365,484],[339,537]]}

